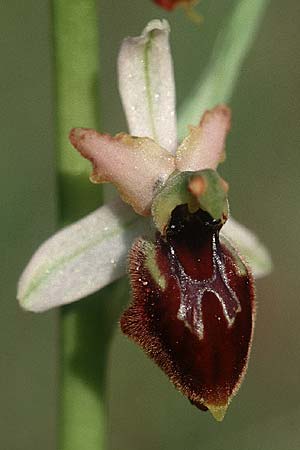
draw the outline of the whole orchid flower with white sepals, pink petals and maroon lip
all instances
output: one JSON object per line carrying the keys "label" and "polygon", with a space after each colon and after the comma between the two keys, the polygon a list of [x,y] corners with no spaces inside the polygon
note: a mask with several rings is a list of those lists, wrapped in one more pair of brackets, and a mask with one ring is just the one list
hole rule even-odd
{"label": "whole orchid flower with white sepals, pink petals and maroon lip", "polygon": [[154,20],[121,46],[119,89],[131,135],[70,133],[92,162],[91,181],[113,183],[122,200],[46,241],[20,278],[18,299],[36,312],[79,300],[125,275],[131,248],[133,300],[123,332],[191,403],[222,420],[247,367],[253,276],[271,263],[257,238],[228,218],[228,185],[216,169],[230,110],[206,111],[177,144],[168,35],[167,22]]}

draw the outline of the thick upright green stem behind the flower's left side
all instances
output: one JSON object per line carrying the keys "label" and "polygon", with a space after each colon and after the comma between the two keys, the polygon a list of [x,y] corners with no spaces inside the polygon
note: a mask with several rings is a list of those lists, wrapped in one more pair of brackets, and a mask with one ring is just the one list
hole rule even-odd
{"label": "thick upright green stem behind the flower's left side", "polygon": [[[97,3],[53,0],[60,225],[101,202],[101,189],[88,179],[90,165],[68,142],[73,127],[97,128]],[[116,322],[105,295],[95,294],[61,312],[60,450],[104,448],[106,366]]]}

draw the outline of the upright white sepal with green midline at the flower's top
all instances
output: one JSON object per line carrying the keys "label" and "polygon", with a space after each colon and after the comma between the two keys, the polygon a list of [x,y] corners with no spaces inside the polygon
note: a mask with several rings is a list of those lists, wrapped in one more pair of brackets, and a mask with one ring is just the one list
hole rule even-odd
{"label": "upright white sepal with green midline at the flower's top", "polygon": [[166,20],[152,20],[141,36],[125,39],[118,74],[130,134],[150,137],[174,153],[177,130],[169,32]]}

